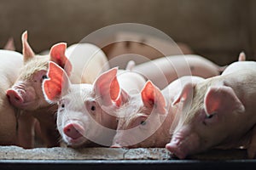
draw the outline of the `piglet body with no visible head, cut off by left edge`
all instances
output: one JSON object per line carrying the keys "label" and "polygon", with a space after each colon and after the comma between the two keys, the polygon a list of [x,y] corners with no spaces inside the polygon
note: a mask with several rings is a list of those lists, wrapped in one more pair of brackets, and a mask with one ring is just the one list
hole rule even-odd
{"label": "piglet body with no visible head, cut off by left edge", "polygon": [[9,104],[4,92],[15,83],[21,66],[22,55],[20,53],[0,50],[0,145],[17,144],[18,142],[16,122],[18,113]]}

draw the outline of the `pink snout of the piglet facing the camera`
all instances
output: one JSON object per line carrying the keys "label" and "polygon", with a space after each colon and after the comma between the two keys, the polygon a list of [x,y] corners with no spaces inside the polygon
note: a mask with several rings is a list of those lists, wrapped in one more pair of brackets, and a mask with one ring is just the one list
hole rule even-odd
{"label": "pink snout of the piglet facing the camera", "polygon": [[81,136],[83,136],[84,127],[77,123],[70,123],[64,127],[63,131],[68,137],[72,139],[79,139]]}

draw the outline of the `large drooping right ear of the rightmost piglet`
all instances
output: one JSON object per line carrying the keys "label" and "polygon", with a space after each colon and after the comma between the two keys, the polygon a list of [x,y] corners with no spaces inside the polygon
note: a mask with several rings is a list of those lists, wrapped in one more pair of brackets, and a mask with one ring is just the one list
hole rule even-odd
{"label": "large drooping right ear of the rightmost piglet", "polygon": [[213,113],[244,112],[244,105],[237,98],[234,90],[227,86],[210,87],[204,99],[207,116]]}

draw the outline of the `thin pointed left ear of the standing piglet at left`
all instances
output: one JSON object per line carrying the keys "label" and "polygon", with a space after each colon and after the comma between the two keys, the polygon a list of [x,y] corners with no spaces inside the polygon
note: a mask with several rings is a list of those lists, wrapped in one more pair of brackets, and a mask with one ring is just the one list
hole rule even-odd
{"label": "thin pointed left ear of the standing piglet at left", "polygon": [[32,48],[27,42],[27,31],[23,32],[21,36],[21,41],[23,46],[22,53],[23,53],[24,61],[26,62],[27,60],[32,59],[35,56]]}

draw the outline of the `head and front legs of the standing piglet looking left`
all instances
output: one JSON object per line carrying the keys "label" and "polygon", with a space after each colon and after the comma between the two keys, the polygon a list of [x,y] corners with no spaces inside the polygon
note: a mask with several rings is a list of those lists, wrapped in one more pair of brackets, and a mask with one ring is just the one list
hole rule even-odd
{"label": "head and front legs of the standing piglet looking left", "polygon": [[[65,67],[68,74],[72,70],[71,63],[65,56],[65,43],[53,46],[50,54],[35,55],[27,42],[27,32],[22,35],[23,66],[15,84],[6,91],[11,105],[20,110],[18,119],[18,138],[20,146],[33,147],[35,120],[40,123],[44,143],[48,147],[59,145],[59,133],[55,128],[56,105],[49,105],[44,100],[42,82],[46,78],[49,60]],[[36,119],[35,119],[36,118]]]}

